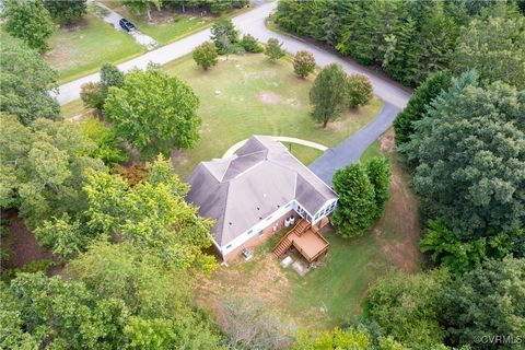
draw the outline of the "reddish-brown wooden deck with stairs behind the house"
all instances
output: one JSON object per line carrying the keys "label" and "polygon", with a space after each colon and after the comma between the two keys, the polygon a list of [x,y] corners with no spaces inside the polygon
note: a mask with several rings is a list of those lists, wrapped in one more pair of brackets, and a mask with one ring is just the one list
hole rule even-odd
{"label": "reddish-brown wooden deck with stairs behind the house", "polygon": [[281,257],[292,246],[308,261],[315,261],[328,249],[328,241],[305,220],[301,220],[290,230],[273,248],[273,254]]}

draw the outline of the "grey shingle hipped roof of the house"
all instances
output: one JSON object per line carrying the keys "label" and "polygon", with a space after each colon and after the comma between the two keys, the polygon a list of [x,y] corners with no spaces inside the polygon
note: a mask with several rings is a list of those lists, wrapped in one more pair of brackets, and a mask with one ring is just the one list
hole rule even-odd
{"label": "grey shingle hipped roof of the house", "polygon": [[226,160],[201,162],[187,178],[187,200],[215,220],[215,242],[224,246],[296,199],[310,213],[336,198],[334,191],[271,137],[254,136]]}

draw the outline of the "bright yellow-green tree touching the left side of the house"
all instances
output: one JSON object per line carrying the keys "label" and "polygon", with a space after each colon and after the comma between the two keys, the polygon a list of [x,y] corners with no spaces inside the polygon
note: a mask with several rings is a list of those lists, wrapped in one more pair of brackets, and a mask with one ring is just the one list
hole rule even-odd
{"label": "bright yellow-green tree touching the left side of the house", "polygon": [[84,187],[89,226],[129,242],[166,265],[208,271],[214,267],[214,259],[202,249],[211,245],[211,222],[186,205],[187,185],[173,174],[172,167],[168,178],[164,178],[161,168],[166,168],[167,161],[159,162],[151,167],[151,182],[133,187],[120,176],[91,174]]}

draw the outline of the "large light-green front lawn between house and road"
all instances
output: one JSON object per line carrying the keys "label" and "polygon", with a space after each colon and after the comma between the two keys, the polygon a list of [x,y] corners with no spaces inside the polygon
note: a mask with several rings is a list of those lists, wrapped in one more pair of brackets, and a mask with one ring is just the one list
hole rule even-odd
{"label": "large light-green front lawn between house and road", "polygon": [[[310,117],[308,91],[312,79],[293,74],[289,60],[270,62],[264,55],[221,58],[209,71],[198,68],[190,57],[163,67],[186,81],[200,97],[203,119],[201,140],[195,149],[177,151],[174,165],[180,176],[200,162],[222,154],[234,143],[254,133],[296,137],[334,147],[372,120],[383,103],[345,113],[326,129]],[[305,164],[320,152],[292,145],[292,153]]]}

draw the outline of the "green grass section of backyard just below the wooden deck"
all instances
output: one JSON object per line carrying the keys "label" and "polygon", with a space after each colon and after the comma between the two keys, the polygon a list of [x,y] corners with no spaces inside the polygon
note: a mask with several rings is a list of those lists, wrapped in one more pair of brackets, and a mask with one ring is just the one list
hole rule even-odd
{"label": "green grass section of backyard just below the wooden deck", "polygon": [[325,237],[330,243],[329,254],[318,268],[305,277],[292,269],[285,271],[292,285],[288,313],[308,328],[331,328],[352,320],[362,312],[369,285],[394,268],[373,233],[345,240],[329,231]]}

